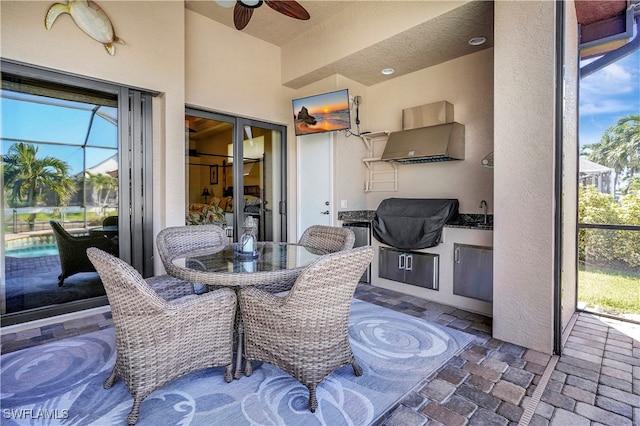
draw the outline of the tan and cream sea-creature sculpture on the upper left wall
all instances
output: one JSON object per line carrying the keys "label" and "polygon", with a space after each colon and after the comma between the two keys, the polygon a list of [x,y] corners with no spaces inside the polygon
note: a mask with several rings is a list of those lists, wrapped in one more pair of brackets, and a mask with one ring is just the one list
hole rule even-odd
{"label": "tan and cream sea-creature sculpture on the upper left wall", "polygon": [[58,16],[68,13],[78,28],[92,39],[102,43],[111,56],[115,55],[114,43],[124,44],[113,30],[107,14],[91,0],[69,0],[65,3],[54,3],[44,18],[44,27],[50,30]]}

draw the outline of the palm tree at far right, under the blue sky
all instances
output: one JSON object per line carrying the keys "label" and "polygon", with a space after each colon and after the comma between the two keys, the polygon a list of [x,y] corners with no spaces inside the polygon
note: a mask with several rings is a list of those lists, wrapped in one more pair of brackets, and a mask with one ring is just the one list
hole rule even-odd
{"label": "palm tree at far right, under the blue sky", "polygon": [[[628,115],[609,127],[600,142],[582,147],[581,154],[615,171],[614,191],[620,180],[628,183],[640,172],[640,115]],[[626,192],[627,188],[623,192]]]}

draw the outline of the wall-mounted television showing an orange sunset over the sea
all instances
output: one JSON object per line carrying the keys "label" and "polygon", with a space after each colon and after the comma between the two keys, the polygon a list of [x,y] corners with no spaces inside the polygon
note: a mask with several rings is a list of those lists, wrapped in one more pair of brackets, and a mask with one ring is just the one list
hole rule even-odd
{"label": "wall-mounted television showing an orange sunset over the sea", "polygon": [[351,128],[349,90],[294,99],[293,121],[296,136]]}

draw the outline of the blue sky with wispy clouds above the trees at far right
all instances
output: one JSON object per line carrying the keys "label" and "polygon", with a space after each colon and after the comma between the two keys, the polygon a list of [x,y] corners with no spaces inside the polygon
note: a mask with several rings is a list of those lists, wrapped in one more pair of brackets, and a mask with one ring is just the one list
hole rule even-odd
{"label": "blue sky with wispy clouds above the trees at far right", "polygon": [[580,80],[580,146],[630,114],[640,114],[640,51]]}

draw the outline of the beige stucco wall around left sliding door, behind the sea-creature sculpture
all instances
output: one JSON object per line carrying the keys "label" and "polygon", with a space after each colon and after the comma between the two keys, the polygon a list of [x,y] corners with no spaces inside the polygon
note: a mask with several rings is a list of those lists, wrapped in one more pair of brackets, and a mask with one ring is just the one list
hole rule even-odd
{"label": "beige stucco wall around left sliding door, behind the sea-creature sculpture", "polygon": [[[2,1],[3,58],[160,92],[154,99],[154,225],[184,223],[184,3],[112,1],[100,6],[116,34],[110,56],[69,15],[44,27],[50,1]],[[178,141],[178,142],[176,142]],[[178,219],[180,218],[180,219]],[[156,256],[157,258],[157,256]],[[156,267],[159,260],[156,262]]]}

